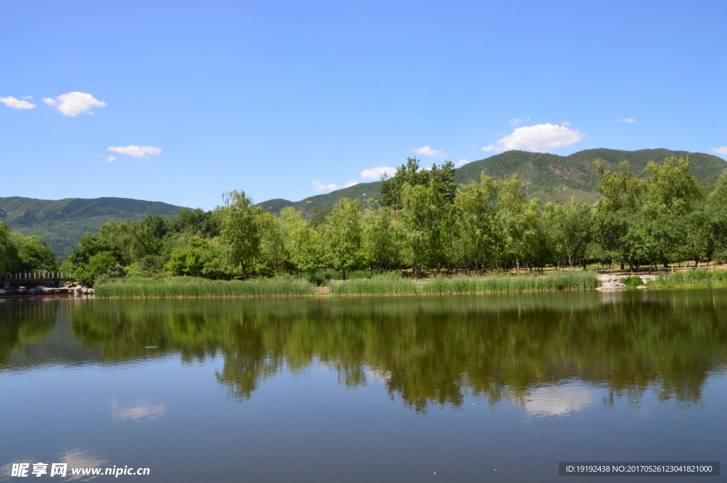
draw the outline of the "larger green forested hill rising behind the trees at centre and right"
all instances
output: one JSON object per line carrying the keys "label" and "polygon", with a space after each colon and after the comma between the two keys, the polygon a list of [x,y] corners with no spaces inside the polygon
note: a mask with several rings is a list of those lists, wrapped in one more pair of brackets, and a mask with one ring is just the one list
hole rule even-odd
{"label": "larger green forested hill rising behind the trees at centre and right", "polygon": [[[714,155],[667,149],[638,151],[594,149],[579,151],[569,156],[507,151],[462,166],[455,171],[454,181],[458,184],[473,182],[479,179],[482,171],[495,178],[517,173],[523,180],[523,187],[529,198],[539,198],[543,202],[564,202],[575,196],[579,200],[593,203],[599,196],[597,189],[599,176],[593,169],[593,161],[603,160],[607,169],[614,169],[622,161],[629,161],[632,171],[640,175],[649,161],[663,161],[664,158],[671,156],[689,157],[691,171],[706,192],[712,189],[719,174],[727,168],[727,162]],[[422,166],[427,165],[422,161]],[[292,202],[278,198],[263,201],[259,205],[271,213],[279,213],[282,208],[293,206],[312,216],[316,208],[331,209],[341,198],[366,200],[377,195],[379,195],[379,182],[371,182],[356,184],[325,195],[311,196],[305,200]]]}

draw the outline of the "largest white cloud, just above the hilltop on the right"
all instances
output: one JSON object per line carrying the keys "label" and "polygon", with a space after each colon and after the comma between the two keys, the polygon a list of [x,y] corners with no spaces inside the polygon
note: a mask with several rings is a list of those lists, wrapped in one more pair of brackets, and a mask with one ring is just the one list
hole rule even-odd
{"label": "largest white cloud, just above the hilltop on the right", "polygon": [[484,146],[483,151],[529,150],[545,153],[558,147],[569,146],[585,137],[579,131],[557,124],[523,126],[499,139],[497,144]]}

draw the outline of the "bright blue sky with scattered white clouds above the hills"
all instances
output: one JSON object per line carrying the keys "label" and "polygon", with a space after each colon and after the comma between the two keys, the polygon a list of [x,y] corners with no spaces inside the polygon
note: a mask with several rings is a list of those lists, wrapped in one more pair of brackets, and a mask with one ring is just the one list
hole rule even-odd
{"label": "bright blue sky with scattered white clouds above the hills", "polygon": [[209,209],[411,155],[727,158],[724,1],[0,0],[0,15],[0,196]]}

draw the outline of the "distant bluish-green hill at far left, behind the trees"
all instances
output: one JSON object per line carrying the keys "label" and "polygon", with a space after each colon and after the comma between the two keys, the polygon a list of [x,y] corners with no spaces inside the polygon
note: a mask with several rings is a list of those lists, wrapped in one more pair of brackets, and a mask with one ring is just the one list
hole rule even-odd
{"label": "distant bluish-green hill at far left, behind the trees", "polygon": [[97,232],[105,222],[138,221],[150,214],[172,216],[179,206],[129,198],[65,198],[37,200],[0,198],[0,219],[11,230],[43,237],[57,256],[68,256],[85,232]]}

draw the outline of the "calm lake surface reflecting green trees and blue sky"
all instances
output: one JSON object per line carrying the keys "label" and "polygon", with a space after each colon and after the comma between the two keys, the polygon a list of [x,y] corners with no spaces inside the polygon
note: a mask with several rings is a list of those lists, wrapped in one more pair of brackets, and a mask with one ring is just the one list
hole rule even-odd
{"label": "calm lake surface reflecting green trees and blue sky", "polygon": [[726,362],[724,290],[2,300],[0,481],[19,462],[323,483],[724,465]]}

